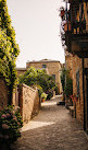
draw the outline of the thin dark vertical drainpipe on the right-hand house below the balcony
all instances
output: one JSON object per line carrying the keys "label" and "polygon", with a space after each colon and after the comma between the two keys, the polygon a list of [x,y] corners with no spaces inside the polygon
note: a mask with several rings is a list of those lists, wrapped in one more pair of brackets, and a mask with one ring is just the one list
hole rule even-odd
{"label": "thin dark vertical drainpipe on the right-hand house below the balcony", "polygon": [[83,61],[83,100],[84,100],[84,130],[86,130],[86,114],[85,114],[85,86],[84,86],[84,58],[81,58]]}

